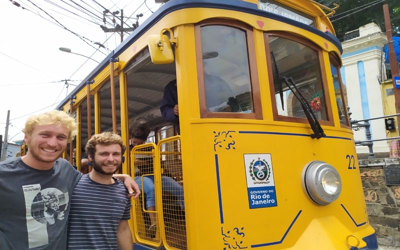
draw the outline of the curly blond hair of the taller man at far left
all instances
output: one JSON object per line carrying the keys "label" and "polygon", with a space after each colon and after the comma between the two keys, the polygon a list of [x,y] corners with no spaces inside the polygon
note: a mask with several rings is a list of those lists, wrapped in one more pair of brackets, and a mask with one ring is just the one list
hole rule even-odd
{"label": "curly blond hair of the taller man at far left", "polygon": [[64,125],[69,131],[67,139],[68,142],[71,142],[77,133],[75,118],[63,111],[58,110],[49,110],[44,113],[33,114],[29,116],[29,118],[26,120],[25,127],[22,129],[22,132],[27,135],[31,135],[36,125],[49,124],[55,124],[57,127]]}

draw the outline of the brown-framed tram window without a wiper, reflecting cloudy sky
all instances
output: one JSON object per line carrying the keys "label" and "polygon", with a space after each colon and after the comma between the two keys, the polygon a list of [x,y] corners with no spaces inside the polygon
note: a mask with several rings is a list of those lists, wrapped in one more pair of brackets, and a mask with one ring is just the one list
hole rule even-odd
{"label": "brown-framed tram window without a wiper, reflecting cloudy sky", "polygon": [[260,118],[252,30],[222,24],[195,27],[201,117]]}

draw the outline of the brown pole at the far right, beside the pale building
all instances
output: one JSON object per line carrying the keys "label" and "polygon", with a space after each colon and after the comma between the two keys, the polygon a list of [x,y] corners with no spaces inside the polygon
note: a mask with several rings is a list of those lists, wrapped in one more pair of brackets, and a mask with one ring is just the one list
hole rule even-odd
{"label": "brown pole at the far right, beside the pale building", "polygon": [[[390,62],[390,70],[391,70],[391,80],[393,83],[393,92],[394,92],[394,106],[396,108],[396,113],[400,113],[400,88],[396,88],[394,83],[394,76],[398,76],[398,64],[396,60],[396,52],[394,52],[393,45],[393,35],[390,23],[390,15],[389,15],[389,7],[387,4],[383,4],[383,16],[384,16],[384,25],[386,28],[386,36],[387,36],[387,46],[389,53],[389,62]],[[400,125],[400,117],[397,116],[397,126]]]}

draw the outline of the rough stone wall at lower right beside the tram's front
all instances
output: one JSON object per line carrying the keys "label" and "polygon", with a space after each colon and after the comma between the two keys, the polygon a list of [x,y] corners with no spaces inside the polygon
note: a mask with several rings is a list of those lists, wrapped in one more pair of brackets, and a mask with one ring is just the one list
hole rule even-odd
{"label": "rough stone wall at lower right beside the tram's front", "polygon": [[386,185],[385,165],[400,165],[400,158],[358,160],[369,223],[380,245],[400,246],[400,185]]}

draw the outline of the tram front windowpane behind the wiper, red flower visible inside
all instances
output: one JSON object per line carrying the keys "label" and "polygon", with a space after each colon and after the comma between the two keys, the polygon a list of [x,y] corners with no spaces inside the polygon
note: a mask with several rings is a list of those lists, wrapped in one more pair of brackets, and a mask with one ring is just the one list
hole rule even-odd
{"label": "tram front windowpane behind the wiper, red flower visible inside", "polygon": [[288,38],[270,35],[267,39],[277,114],[306,117],[293,92],[280,80],[285,76],[293,78],[315,116],[328,120],[318,50]]}

